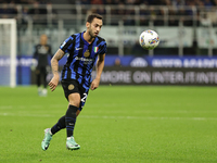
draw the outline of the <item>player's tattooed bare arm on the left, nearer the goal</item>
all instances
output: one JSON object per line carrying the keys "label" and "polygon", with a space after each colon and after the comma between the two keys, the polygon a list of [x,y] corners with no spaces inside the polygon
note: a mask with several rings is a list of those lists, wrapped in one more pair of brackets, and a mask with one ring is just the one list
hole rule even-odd
{"label": "player's tattooed bare arm on the left, nearer the goal", "polygon": [[51,59],[51,68],[53,73],[53,77],[51,82],[48,84],[50,86],[51,91],[55,90],[58,84],[59,84],[59,61],[64,57],[65,52],[61,49],[56,51],[56,53]]}

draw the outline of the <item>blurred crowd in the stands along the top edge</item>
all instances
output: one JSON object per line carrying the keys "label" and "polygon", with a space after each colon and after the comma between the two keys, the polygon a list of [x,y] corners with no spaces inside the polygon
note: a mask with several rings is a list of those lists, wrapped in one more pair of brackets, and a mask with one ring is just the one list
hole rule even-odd
{"label": "blurred crowd in the stands along the top edge", "polygon": [[[58,1],[55,1],[56,4]],[[192,25],[192,18],[193,16],[193,10],[192,7],[199,7],[204,8],[206,11],[212,11],[213,7],[217,7],[217,0],[67,0],[71,4],[81,4],[82,7],[86,4],[91,4],[93,8],[90,8],[87,10],[87,8],[84,8],[82,14],[87,14],[87,12],[97,12],[99,14],[105,15],[106,10],[103,7],[95,8],[94,4],[101,4],[101,5],[112,5],[111,14],[114,16],[114,18],[122,16],[124,21],[124,25],[135,25],[136,20],[133,15],[136,15],[136,10],[133,8],[127,9],[127,7],[149,7],[149,8],[140,8],[139,15],[140,15],[140,25],[149,25],[149,20],[152,20],[154,22],[154,25],[164,25],[165,20],[163,18],[163,15],[166,14],[169,15],[168,24],[167,25],[175,25],[177,26],[179,23],[179,18],[176,16],[189,16],[188,20],[184,18],[184,25]],[[59,1],[58,3],[62,3],[62,1]],[[10,18],[14,17],[17,18],[17,15],[20,13],[20,18],[22,17],[22,22],[26,23],[29,17],[33,18],[33,15],[35,18],[41,18],[42,14],[48,13],[48,9],[46,8],[48,4],[52,4],[51,0],[0,0],[0,18]],[[16,4],[24,4],[23,8],[18,9]],[[40,4],[46,4],[44,7],[39,7]],[[153,5],[167,5],[173,7],[168,8],[168,11],[165,11],[164,9],[157,9],[153,8]],[[183,10],[186,7],[189,10]],[[55,11],[52,11],[55,13]],[[216,12],[216,10],[215,10]],[[76,10],[72,11],[72,13],[76,14]],[[196,16],[201,16],[201,11],[197,10]],[[217,12],[216,12],[217,13]],[[30,16],[29,16],[30,15]],[[130,17],[131,15],[131,17]],[[214,14],[210,14],[212,16]],[[206,16],[206,15],[205,15]],[[204,20],[206,17],[203,17]],[[201,16],[202,17],[202,16]],[[112,17],[113,18],[113,17]],[[213,16],[213,20],[217,20],[216,16]],[[138,21],[138,20],[137,20]],[[117,22],[114,23],[116,25]],[[217,24],[217,22],[216,22]],[[113,25],[113,24],[112,24]]]}

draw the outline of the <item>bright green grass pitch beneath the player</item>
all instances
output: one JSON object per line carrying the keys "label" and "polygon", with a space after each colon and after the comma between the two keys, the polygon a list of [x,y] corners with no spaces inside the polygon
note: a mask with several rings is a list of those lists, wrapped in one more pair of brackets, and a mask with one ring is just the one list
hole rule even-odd
{"label": "bright green grass pitch beneath the player", "polygon": [[43,129],[65,114],[58,87],[38,97],[36,87],[0,87],[2,163],[205,163],[217,162],[217,88],[100,86],[89,92],[77,118],[75,140],[66,131],[41,150]]}

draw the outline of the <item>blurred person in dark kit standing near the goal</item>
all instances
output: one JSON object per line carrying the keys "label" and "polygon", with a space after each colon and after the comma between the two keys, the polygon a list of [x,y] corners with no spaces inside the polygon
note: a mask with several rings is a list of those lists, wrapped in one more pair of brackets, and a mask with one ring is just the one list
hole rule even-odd
{"label": "blurred person in dark kit standing near the goal", "polygon": [[[49,68],[49,57],[52,57],[51,53],[51,46],[48,45],[48,36],[41,35],[40,36],[40,43],[36,45],[34,59],[33,59],[33,66],[31,70],[36,71],[36,82],[38,87],[38,95],[39,96],[47,96],[47,74]],[[42,82],[42,83],[41,83]],[[43,88],[41,88],[41,84]]]}

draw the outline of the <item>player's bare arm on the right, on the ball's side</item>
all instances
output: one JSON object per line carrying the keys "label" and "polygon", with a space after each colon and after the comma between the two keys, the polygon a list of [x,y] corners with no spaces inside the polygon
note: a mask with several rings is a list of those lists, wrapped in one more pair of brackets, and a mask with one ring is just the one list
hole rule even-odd
{"label": "player's bare arm on the right, on the ball's side", "polygon": [[97,76],[93,79],[93,82],[91,83],[91,86],[90,86],[91,90],[97,89],[99,87],[99,85],[100,85],[100,78],[101,78],[102,71],[104,68],[104,62],[105,62],[105,53],[104,54],[100,54],[98,57],[97,66],[95,66]]}

